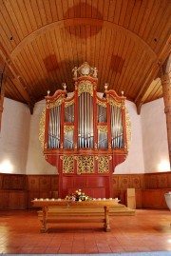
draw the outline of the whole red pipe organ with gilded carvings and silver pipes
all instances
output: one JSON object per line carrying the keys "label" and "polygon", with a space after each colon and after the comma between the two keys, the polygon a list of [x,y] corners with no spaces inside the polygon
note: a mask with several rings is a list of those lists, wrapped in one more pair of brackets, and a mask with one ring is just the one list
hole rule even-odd
{"label": "whole red pipe organ with gilded carvings and silver pipes", "polygon": [[59,173],[59,196],[82,188],[92,197],[112,197],[112,173],[128,153],[125,97],[104,86],[86,62],[73,69],[75,90],[46,96],[40,140],[48,163]]}

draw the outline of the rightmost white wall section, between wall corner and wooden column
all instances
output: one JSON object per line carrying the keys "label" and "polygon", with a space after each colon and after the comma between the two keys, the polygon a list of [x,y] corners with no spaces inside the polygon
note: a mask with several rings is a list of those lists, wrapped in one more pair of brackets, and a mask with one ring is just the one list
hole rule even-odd
{"label": "rightmost white wall section, between wall corner and wooden column", "polygon": [[145,172],[169,171],[163,100],[159,99],[142,105],[141,116]]}

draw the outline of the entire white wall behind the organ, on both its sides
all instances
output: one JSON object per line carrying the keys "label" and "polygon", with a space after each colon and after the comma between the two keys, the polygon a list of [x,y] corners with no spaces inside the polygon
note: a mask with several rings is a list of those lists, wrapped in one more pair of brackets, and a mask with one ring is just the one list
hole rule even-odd
{"label": "entire white wall behind the organ, on both its sides", "polygon": [[[141,115],[137,114],[134,103],[126,101],[125,106],[130,115],[132,139],[128,156],[116,167],[115,173],[161,171],[161,161],[168,163],[169,160],[162,99],[143,105]],[[0,133],[0,172],[57,173],[56,167],[45,160],[39,141],[43,108],[44,100],[35,104],[33,115],[30,115],[26,105],[5,98]]]}

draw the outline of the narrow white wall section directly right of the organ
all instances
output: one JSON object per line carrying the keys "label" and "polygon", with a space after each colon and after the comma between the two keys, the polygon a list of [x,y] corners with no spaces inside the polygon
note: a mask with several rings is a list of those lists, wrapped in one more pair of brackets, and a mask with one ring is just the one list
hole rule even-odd
{"label": "narrow white wall section directly right of the organ", "polygon": [[141,115],[137,114],[136,105],[132,102],[126,101],[125,108],[131,121],[131,142],[127,158],[115,168],[114,173],[144,173]]}

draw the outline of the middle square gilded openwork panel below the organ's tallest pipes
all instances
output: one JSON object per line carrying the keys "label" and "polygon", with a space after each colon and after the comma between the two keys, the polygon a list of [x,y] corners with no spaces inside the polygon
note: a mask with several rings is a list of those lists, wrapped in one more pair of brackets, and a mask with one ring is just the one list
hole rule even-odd
{"label": "middle square gilded openwork panel below the organ's tallest pipes", "polygon": [[78,156],[77,162],[78,174],[94,173],[94,157],[93,156]]}

